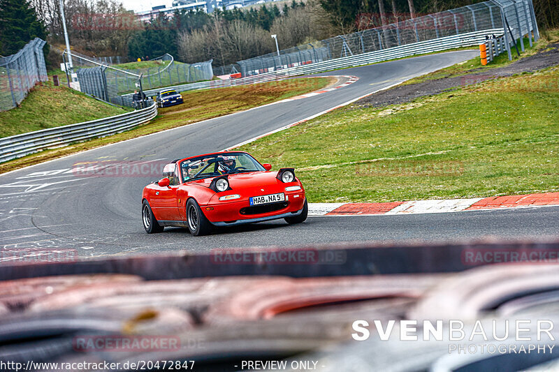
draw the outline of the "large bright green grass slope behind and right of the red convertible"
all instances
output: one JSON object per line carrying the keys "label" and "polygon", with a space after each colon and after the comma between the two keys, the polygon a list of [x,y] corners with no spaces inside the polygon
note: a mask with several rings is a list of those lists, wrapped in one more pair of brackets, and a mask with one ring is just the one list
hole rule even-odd
{"label": "large bright green grass slope behind and right of the red convertible", "polygon": [[296,167],[311,202],[559,190],[559,68],[407,105],[347,107],[241,149]]}

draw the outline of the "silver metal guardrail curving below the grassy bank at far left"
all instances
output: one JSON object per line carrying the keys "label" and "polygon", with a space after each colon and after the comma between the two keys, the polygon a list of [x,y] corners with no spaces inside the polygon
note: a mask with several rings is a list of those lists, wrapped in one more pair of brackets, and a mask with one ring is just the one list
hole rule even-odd
{"label": "silver metal guardrail curving below the grassy bank at far left", "polygon": [[157,116],[157,105],[83,123],[0,138],[0,163],[44,149],[128,131]]}

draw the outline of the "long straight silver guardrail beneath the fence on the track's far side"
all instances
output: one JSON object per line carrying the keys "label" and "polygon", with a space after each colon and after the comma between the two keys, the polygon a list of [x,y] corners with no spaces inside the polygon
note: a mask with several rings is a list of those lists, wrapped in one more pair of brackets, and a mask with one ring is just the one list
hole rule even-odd
{"label": "long straight silver guardrail beneath the fence on the track's far side", "polygon": [[[273,80],[280,80],[284,77],[291,77],[297,75],[308,75],[313,73],[323,73],[329,70],[336,70],[337,68],[348,68],[373,64],[376,62],[388,61],[389,59],[398,59],[404,57],[411,57],[419,54],[426,54],[432,52],[440,52],[442,50],[453,49],[458,47],[468,47],[479,45],[486,40],[487,35],[502,34],[503,29],[486,29],[481,31],[474,31],[467,34],[458,34],[453,36],[446,36],[433,40],[420,41],[419,43],[412,43],[407,45],[400,45],[398,47],[391,47],[384,50],[377,50],[363,54],[356,54],[348,57],[341,57],[337,59],[330,59],[303,66],[296,66],[291,68],[284,68],[282,70],[273,70],[268,73],[261,73],[249,77],[241,77],[240,79],[227,79],[227,80],[211,80],[208,82],[196,82],[193,84],[180,84],[165,89],[175,89],[176,91],[189,91],[194,89],[211,89],[222,87],[234,87],[237,85],[256,84],[260,82],[270,82]],[[146,96],[154,96],[161,89],[151,89],[144,91]],[[131,94],[122,96],[123,102],[131,100]]]}

